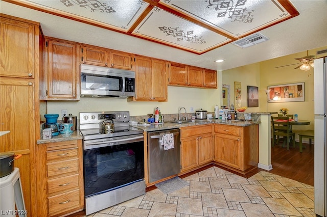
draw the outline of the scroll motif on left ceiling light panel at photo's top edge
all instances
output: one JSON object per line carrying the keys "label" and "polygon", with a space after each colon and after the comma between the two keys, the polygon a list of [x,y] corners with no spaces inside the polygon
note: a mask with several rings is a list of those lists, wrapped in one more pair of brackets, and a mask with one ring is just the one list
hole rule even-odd
{"label": "scroll motif on left ceiling light panel at photo's top edge", "polygon": [[[74,6],[74,4],[80,6],[80,8],[89,8],[91,12],[100,11],[100,12],[106,12],[106,13],[114,13],[115,10],[112,9],[112,7],[107,6],[105,3],[101,3],[97,0],[60,0],[62,4],[64,4],[66,7]],[[74,4],[73,4],[74,3]]]}

